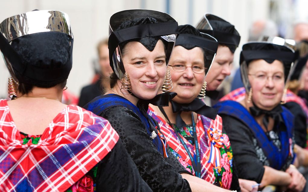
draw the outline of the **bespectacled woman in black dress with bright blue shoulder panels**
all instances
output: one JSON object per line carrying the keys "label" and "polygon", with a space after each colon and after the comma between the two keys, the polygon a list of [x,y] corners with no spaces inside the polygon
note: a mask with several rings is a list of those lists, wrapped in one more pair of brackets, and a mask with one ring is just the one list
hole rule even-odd
{"label": "bespectacled woman in black dress with bright blue shoulder panels", "polygon": [[271,184],[301,191],[306,180],[292,165],[294,116],[281,105],[294,50],[266,41],[249,42],[242,49],[245,97],[214,106],[229,135],[238,176],[260,183],[261,188]]}

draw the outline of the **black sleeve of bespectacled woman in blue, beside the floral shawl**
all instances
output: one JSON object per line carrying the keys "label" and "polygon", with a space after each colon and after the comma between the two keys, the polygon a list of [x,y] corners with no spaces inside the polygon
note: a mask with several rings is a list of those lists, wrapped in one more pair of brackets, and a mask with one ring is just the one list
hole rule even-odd
{"label": "black sleeve of bespectacled woman in blue, beside the floral shawl", "polygon": [[220,116],[230,139],[238,178],[260,183],[264,167],[256,154],[252,132],[249,127],[236,118],[223,114]]}

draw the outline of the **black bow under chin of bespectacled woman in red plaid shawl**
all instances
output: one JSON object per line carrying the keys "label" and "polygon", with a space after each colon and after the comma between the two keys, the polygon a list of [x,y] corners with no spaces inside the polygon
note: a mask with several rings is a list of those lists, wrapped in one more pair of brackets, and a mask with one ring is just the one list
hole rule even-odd
{"label": "black bow under chin of bespectacled woman in red plaid shawl", "polygon": [[215,120],[217,116],[216,109],[206,106],[206,104],[198,98],[194,99],[189,104],[179,104],[174,101],[171,101],[171,105],[172,105],[172,111],[174,113],[178,112],[178,114],[176,115],[176,127],[185,127],[186,125],[181,117],[182,111],[187,111],[187,112],[193,111],[196,112],[197,114],[204,115],[213,120]]}

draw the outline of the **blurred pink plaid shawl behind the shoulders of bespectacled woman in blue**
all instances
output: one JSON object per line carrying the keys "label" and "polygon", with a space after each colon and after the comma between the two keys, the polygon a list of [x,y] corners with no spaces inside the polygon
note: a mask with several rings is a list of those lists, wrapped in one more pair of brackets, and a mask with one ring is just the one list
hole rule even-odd
{"label": "blurred pink plaid shawl behind the shoulders of bespectacled woman in blue", "polygon": [[[232,100],[232,101],[239,102],[243,100],[244,98],[245,98],[245,88],[241,87],[223,96],[219,101]],[[308,107],[305,104],[305,101],[301,97],[295,95],[292,91],[288,89],[287,94],[286,94],[286,102],[295,102],[299,104],[299,106],[301,106],[302,110],[305,112],[307,116],[307,122],[308,122]]]}

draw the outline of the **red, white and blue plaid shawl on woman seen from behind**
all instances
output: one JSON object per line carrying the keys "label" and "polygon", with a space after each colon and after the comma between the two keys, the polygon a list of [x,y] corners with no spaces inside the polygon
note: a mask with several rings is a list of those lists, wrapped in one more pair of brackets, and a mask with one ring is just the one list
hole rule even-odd
{"label": "red, white and blue plaid shawl on woman seen from behind", "polygon": [[65,191],[118,139],[107,120],[68,105],[38,144],[23,145],[6,100],[0,100],[0,191]]}

